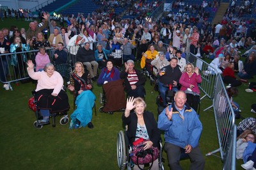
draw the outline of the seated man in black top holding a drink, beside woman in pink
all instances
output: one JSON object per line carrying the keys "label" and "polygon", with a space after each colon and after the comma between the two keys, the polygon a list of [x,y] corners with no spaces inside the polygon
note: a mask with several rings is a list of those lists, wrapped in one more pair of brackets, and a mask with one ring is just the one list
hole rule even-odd
{"label": "seated man in black top holding a drink, beside woman in pink", "polygon": [[158,88],[160,96],[163,99],[163,105],[167,105],[165,93],[169,89],[169,86],[173,86],[173,91],[178,91],[178,82],[181,76],[179,66],[177,65],[178,59],[172,58],[170,65],[164,66],[157,74],[159,79]]}

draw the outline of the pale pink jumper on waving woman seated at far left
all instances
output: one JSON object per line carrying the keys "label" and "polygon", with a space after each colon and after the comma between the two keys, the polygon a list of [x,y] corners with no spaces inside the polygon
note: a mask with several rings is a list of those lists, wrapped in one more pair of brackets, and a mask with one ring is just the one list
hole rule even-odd
{"label": "pale pink jumper on waving woman seated at far left", "polygon": [[36,91],[40,91],[41,89],[54,89],[52,93],[56,93],[57,95],[60,93],[61,89],[63,89],[63,79],[60,73],[54,71],[52,76],[49,77],[46,72],[35,72],[33,69],[28,70],[28,75],[31,79],[37,80]]}

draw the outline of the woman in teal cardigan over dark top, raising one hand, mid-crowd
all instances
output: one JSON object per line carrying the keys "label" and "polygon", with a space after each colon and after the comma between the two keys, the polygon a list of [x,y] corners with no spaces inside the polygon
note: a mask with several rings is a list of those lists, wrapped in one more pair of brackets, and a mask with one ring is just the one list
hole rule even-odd
{"label": "woman in teal cardigan over dark top, raising one hand, mid-crowd", "polygon": [[106,66],[106,61],[108,59],[108,54],[111,54],[112,52],[112,41],[109,42],[109,50],[106,50],[102,47],[101,43],[97,43],[97,50],[94,52],[95,60],[99,63],[99,68],[102,69],[104,66]]}

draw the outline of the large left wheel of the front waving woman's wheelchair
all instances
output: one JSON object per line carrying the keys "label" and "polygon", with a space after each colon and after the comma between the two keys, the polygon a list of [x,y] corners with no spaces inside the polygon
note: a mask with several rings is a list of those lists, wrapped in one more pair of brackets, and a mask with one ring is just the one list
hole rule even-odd
{"label": "large left wheel of the front waving woman's wheelchair", "polygon": [[121,170],[125,169],[126,166],[126,151],[125,151],[125,139],[124,139],[124,132],[120,130],[117,135],[116,140],[116,155],[117,155],[117,163],[118,167]]}

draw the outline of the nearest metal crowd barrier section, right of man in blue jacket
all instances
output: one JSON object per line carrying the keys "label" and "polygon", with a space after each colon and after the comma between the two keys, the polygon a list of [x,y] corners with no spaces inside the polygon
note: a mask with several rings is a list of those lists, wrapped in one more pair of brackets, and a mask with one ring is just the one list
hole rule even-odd
{"label": "nearest metal crowd barrier section, right of man in blue jacket", "polygon": [[223,169],[236,169],[235,114],[220,74],[216,77],[213,109],[220,148],[207,153],[206,156],[220,151]]}

